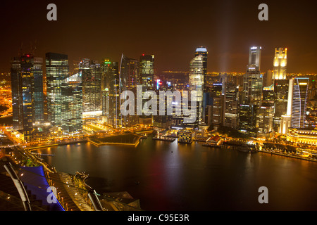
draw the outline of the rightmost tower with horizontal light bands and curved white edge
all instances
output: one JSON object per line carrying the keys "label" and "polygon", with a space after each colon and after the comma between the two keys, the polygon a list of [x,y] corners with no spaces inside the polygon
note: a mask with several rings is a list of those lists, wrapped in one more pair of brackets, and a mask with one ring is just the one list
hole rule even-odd
{"label": "rightmost tower with horizontal light bands and curved white edge", "polygon": [[295,77],[292,95],[292,122],[291,127],[303,128],[306,120],[307,93],[309,78]]}

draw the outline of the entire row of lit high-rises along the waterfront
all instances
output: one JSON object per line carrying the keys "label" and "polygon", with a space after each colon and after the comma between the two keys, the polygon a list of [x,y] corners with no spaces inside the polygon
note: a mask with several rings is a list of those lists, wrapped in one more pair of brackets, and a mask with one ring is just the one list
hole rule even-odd
{"label": "entire row of lit high-rises along the waterfront", "polygon": [[[223,74],[215,82],[210,82],[207,73],[207,49],[201,46],[193,55],[189,71],[183,74],[186,82],[155,75],[154,55],[137,60],[122,54],[120,63],[83,58],[72,73],[65,54],[46,53],[45,60],[32,54],[15,57],[11,63],[13,129],[21,131],[25,141],[32,141],[44,125],[63,134],[78,134],[85,117],[101,118],[116,129],[137,124],[152,124],[159,130],[212,125],[257,137],[304,127],[309,79],[286,76],[286,48],[275,49],[273,70],[263,73],[261,46],[252,46],[243,76]],[[135,101],[142,101],[142,108],[135,104],[142,115],[121,113],[123,91],[132,91]],[[196,91],[196,104],[189,101],[189,108],[196,108],[196,120],[185,123],[186,115],[175,113],[184,104],[175,96],[170,100],[173,115],[159,115],[151,107],[151,114],[145,114],[146,91],[158,95],[159,91],[180,91],[182,99],[190,99],[186,91],[189,95]]]}

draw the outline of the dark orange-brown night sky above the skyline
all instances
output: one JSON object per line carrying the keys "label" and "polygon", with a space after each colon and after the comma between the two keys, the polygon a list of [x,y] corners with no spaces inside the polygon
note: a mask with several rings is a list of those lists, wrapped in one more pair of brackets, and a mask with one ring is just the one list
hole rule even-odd
{"label": "dark orange-brown night sky above the skyline", "polygon": [[[48,21],[46,6],[57,6]],[[268,5],[260,21],[259,4]],[[249,47],[262,46],[261,71],[273,68],[275,47],[287,47],[287,72],[317,73],[316,1],[12,1],[1,0],[0,72],[36,43],[35,55],[68,54],[73,60],[121,53],[154,54],[156,72],[189,70],[197,46],[209,51],[208,71],[244,72]]]}

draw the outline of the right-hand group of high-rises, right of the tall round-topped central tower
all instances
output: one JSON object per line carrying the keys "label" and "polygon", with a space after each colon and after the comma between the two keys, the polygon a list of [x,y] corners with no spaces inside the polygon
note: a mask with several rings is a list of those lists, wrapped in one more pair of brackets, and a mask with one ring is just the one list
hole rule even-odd
{"label": "right-hand group of high-rises, right of the tall round-topped central tower", "polygon": [[243,76],[224,74],[206,87],[206,124],[263,138],[305,127],[309,78],[287,77],[287,48],[276,48],[273,70],[261,72],[261,49],[249,49]]}

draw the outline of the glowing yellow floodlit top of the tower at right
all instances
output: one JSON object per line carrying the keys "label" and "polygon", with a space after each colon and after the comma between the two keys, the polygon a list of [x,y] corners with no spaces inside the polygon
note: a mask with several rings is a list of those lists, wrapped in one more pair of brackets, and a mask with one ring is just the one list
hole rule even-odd
{"label": "glowing yellow floodlit top of the tower at right", "polygon": [[274,79],[286,79],[287,49],[275,48],[273,77]]}

